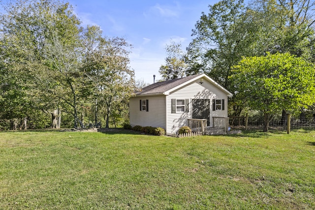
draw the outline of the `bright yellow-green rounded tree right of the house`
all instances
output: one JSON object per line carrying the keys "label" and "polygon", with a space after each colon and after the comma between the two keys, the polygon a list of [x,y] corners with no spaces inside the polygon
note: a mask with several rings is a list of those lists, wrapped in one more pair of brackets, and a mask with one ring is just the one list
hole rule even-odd
{"label": "bright yellow-green rounded tree right of the house", "polygon": [[230,76],[237,97],[264,114],[268,131],[273,114],[295,112],[315,102],[314,64],[289,53],[243,58]]}

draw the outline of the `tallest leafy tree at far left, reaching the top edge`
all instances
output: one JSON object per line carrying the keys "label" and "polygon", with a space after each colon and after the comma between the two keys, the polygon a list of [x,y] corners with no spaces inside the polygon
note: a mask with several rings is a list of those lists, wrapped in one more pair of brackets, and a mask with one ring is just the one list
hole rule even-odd
{"label": "tallest leafy tree at far left, reaching the top edge", "polygon": [[59,106],[71,107],[77,127],[80,21],[73,8],[57,0],[17,0],[5,11],[0,18],[6,70],[23,78],[37,109],[54,110],[48,111],[52,119]]}

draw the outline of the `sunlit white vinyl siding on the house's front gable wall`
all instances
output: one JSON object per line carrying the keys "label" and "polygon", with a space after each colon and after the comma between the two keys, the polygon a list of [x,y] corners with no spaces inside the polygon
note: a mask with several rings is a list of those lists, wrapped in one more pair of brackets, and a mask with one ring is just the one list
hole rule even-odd
{"label": "sunlit white vinyl siding on the house's front gable wall", "polygon": [[[172,113],[171,99],[189,98],[189,112],[188,113]],[[191,99],[210,99],[210,127],[213,126],[212,117],[227,117],[227,95],[221,89],[204,80],[201,85],[198,82],[193,82],[180,90],[174,91],[166,96],[166,112],[167,122],[166,131],[177,133],[179,128],[188,125],[188,120],[191,119]],[[212,111],[212,99],[224,99],[224,110]],[[221,105],[222,107],[222,105]]]}

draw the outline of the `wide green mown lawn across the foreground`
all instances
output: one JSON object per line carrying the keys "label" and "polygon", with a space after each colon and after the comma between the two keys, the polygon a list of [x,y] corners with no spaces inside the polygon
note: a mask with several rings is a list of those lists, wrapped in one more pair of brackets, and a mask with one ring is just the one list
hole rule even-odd
{"label": "wide green mown lawn across the foreground", "polygon": [[0,133],[0,209],[315,209],[314,172],[315,131]]}

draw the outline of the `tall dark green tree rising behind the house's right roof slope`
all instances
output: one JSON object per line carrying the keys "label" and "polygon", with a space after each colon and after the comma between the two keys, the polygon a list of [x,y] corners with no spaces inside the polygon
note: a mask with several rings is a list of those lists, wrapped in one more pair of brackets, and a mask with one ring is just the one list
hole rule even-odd
{"label": "tall dark green tree rising behind the house's right roof slope", "polygon": [[[247,12],[248,11],[248,12]],[[252,43],[257,39],[255,16],[243,0],[224,0],[209,5],[192,30],[196,36],[189,44],[188,74],[204,72],[231,90],[228,76],[231,66],[242,56],[252,55]]]}

